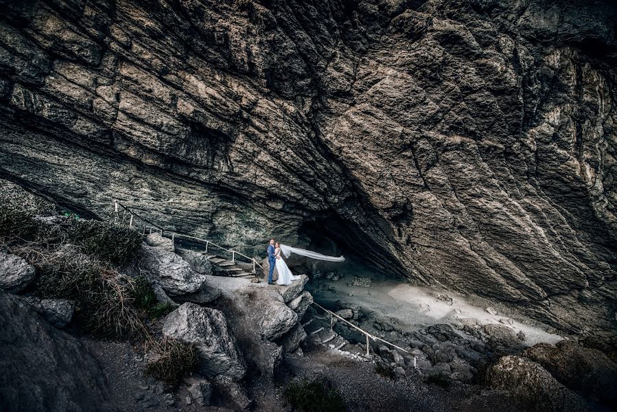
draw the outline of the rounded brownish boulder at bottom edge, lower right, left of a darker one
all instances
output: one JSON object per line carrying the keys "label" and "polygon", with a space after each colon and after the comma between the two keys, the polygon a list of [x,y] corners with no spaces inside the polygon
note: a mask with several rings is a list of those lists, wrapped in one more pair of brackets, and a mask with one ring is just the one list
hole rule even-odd
{"label": "rounded brownish boulder at bottom edge, lower right, left of a darker one", "polygon": [[535,411],[586,411],[581,396],[561,385],[542,365],[520,356],[503,356],[486,374],[487,385],[506,389]]}

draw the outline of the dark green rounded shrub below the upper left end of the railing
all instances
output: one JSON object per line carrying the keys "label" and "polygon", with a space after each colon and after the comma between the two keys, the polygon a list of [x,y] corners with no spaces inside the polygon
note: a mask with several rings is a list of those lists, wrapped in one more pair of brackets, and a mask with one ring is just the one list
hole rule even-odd
{"label": "dark green rounded shrub below the upper left end of the railing", "polygon": [[110,222],[71,220],[68,235],[84,252],[114,264],[130,262],[141,248],[141,233]]}

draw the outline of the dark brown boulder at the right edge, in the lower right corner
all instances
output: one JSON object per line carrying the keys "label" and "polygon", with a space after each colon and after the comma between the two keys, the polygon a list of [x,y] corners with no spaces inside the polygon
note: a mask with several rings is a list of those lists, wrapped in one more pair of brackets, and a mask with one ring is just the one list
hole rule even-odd
{"label": "dark brown boulder at the right edge, in the lower right corner", "polygon": [[599,350],[562,341],[557,346],[539,343],[528,348],[524,356],[583,396],[601,400],[617,398],[617,365]]}

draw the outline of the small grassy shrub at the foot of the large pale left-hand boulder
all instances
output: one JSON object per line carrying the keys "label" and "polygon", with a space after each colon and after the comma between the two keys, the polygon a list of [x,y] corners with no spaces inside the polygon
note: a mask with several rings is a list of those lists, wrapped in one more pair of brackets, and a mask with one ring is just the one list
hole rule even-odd
{"label": "small grassy shrub at the foot of the large pale left-hand boulder", "polygon": [[197,370],[198,352],[192,343],[163,337],[148,343],[150,354],[154,356],[145,367],[145,374],[161,380],[167,388],[174,389],[185,376]]}

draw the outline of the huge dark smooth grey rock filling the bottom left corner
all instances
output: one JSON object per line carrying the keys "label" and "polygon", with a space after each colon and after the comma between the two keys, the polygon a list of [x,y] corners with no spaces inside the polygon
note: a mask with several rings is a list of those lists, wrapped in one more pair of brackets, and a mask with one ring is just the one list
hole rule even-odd
{"label": "huge dark smooth grey rock filling the bottom left corner", "polygon": [[110,410],[104,373],[82,345],[1,291],[0,370],[3,411]]}

